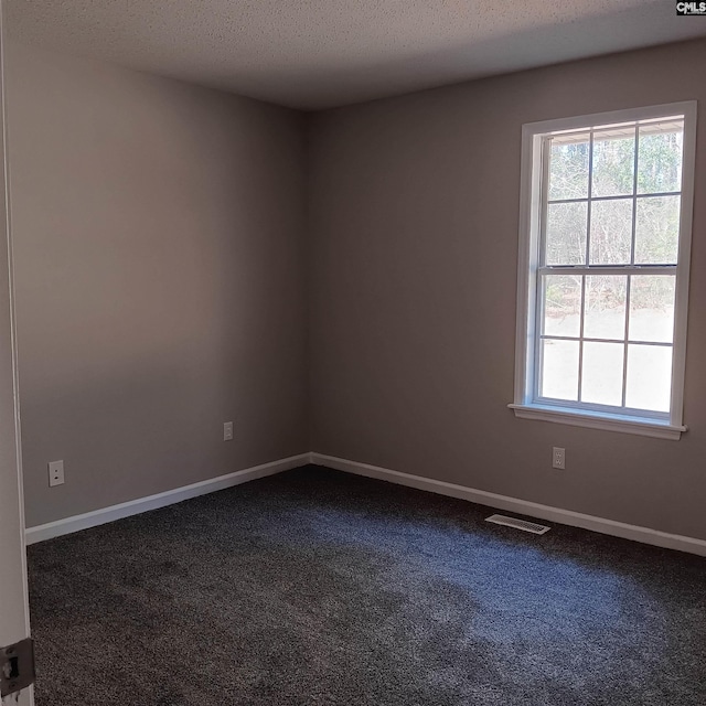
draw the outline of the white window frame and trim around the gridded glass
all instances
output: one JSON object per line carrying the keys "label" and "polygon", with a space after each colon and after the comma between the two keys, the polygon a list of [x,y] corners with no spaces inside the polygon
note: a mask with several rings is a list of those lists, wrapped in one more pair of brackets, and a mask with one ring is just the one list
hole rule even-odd
{"label": "white window frame and trim around the gridded glass", "polygon": [[[538,307],[537,268],[541,247],[542,145],[553,132],[590,129],[603,125],[684,116],[682,161],[682,204],[680,247],[676,266],[674,343],[672,357],[672,399],[668,415],[635,415],[573,407],[570,402],[536,402],[535,352]],[[663,439],[680,439],[683,425],[684,371],[686,363],[686,323],[688,276],[694,210],[694,168],[696,158],[696,101],[687,100],[643,108],[599,113],[588,116],[530,122],[522,127],[522,181],[520,194],[520,252],[517,265],[517,331],[515,347],[515,397],[509,405],[515,416],[558,424],[622,431]]]}

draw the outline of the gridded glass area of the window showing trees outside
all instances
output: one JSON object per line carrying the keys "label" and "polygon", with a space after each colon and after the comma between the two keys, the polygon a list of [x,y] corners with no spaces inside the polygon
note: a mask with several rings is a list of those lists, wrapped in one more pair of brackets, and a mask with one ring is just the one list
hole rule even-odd
{"label": "gridded glass area of the window showing trees outside", "polygon": [[549,135],[537,396],[668,413],[682,117]]}

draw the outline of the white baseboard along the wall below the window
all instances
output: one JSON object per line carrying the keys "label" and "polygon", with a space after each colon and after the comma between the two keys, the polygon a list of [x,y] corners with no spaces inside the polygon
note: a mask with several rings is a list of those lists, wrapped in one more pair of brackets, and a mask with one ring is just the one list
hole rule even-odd
{"label": "white baseboard along the wall below the window", "polygon": [[600,532],[601,534],[609,534],[614,537],[622,537],[623,539],[632,539],[634,542],[642,542],[643,544],[651,544],[657,547],[677,549],[680,552],[688,552],[689,554],[706,556],[705,539],[685,537],[678,534],[668,534],[666,532],[660,532],[659,530],[650,530],[649,527],[640,527],[637,525],[629,525],[623,522],[616,522],[614,520],[605,520],[602,517],[595,517],[593,515],[585,515],[580,512],[542,505],[526,500],[489,493],[484,490],[474,490],[472,488],[456,485],[454,483],[446,483],[445,481],[437,481],[429,478],[422,478],[420,475],[410,475],[409,473],[391,471],[389,469],[379,468],[378,466],[370,466],[368,463],[360,463],[357,461],[347,461],[333,456],[324,456],[323,453],[311,453],[310,457],[311,463],[327,466],[339,471],[346,471],[347,473],[355,473],[356,475],[366,475],[367,478],[376,478],[389,483],[408,485],[409,488],[426,490],[440,495],[449,495],[450,498],[459,498],[480,505],[488,505],[498,510],[505,510],[522,515],[530,515],[531,517],[548,520],[550,522],[557,522],[571,527],[591,530],[592,532]]}

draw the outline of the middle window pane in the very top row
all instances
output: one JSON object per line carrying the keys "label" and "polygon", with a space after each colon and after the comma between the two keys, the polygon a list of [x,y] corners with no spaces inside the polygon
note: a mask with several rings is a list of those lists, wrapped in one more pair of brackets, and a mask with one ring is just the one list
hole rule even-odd
{"label": "middle window pane in the very top row", "polygon": [[592,195],[632,194],[634,160],[633,128],[614,128],[595,132]]}

